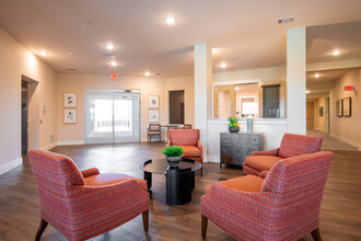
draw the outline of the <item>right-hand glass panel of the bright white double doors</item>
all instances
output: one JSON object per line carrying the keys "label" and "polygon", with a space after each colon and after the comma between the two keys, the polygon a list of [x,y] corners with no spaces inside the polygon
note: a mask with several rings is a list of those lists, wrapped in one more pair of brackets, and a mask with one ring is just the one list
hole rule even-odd
{"label": "right-hand glass panel of the bright white double doors", "polygon": [[139,141],[139,94],[114,93],[114,141]]}

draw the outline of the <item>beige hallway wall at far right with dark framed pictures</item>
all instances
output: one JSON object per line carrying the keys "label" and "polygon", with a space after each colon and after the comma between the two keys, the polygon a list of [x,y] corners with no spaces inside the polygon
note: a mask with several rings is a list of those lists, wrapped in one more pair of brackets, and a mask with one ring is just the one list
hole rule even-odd
{"label": "beige hallway wall at far right with dark framed pictures", "polygon": [[[351,69],[337,79],[330,91],[330,134],[353,146],[361,146],[360,139],[360,93],[343,91],[345,85],[354,85],[360,90],[360,69]],[[336,116],[336,101],[351,97],[351,117]]]}

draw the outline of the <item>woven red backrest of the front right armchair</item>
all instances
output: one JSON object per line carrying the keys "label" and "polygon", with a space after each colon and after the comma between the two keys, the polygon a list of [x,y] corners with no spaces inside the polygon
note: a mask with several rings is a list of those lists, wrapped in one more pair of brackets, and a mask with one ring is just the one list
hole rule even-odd
{"label": "woven red backrest of the front right armchair", "polygon": [[[319,151],[276,162],[269,170],[263,192],[271,192],[284,202],[318,202],[325,188],[333,152]],[[282,203],[282,202],[280,202]]]}

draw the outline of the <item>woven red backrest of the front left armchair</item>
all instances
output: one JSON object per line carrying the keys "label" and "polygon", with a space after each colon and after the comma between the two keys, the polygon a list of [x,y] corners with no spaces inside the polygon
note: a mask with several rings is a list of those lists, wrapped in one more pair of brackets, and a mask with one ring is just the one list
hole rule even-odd
{"label": "woven red backrest of the front left armchair", "polygon": [[30,150],[27,154],[42,208],[63,203],[73,185],[84,185],[83,175],[70,158],[40,149]]}

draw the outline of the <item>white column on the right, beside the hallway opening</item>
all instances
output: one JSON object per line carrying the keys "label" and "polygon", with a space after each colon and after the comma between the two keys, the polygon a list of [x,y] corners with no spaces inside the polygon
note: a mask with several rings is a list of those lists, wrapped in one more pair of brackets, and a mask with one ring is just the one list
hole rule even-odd
{"label": "white column on the right, beside the hallway opening", "polygon": [[289,133],[306,134],[306,28],[287,33],[287,116]]}

